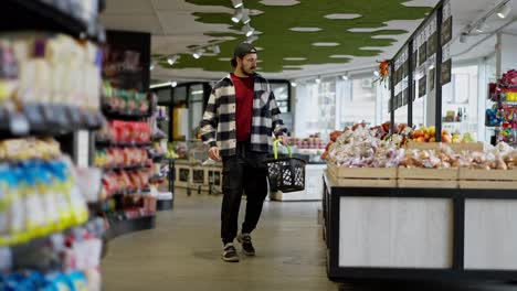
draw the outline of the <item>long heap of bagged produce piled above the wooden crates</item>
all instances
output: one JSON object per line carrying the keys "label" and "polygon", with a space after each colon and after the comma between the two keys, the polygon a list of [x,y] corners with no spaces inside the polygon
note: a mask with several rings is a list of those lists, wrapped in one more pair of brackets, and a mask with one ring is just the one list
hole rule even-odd
{"label": "long heap of bagged produce piled above the wooden crates", "polygon": [[361,125],[354,128],[330,134],[331,141],[324,154],[328,162],[346,168],[514,170],[517,165],[517,150],[505,142],[484,151],[455,152],[447,143],[432,150],[407,149],[393,140],[378,138],[378,128],[368,129]]}

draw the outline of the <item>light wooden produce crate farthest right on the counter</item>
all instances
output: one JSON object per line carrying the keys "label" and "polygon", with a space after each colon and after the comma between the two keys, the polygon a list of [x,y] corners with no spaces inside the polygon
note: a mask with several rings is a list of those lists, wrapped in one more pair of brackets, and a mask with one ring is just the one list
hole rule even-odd
{"label": "light wooden produce crate farthest right on the counter", "polygon": [[517,170],[460,169],[461,188],[517,190]]}

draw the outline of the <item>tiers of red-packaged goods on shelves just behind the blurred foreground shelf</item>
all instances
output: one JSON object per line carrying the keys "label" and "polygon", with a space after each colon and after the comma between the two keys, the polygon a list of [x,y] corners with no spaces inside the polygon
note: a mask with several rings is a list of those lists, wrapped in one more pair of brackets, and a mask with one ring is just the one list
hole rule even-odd
{"label": "tiers of red-packaged goods on shelves just behind the blurred foreground shelf", "polygon": [[101,192],[104,203],[98,212],[107,219],[113,236],[129,231],[120,230],[119,225],[131,219],[148,222],[144,228],[154,226],[156,197],[150,191],[154,157],[149,125],[140,121],[145,116],[147,112],[131,115],[136,120],[112,119],[96,133],[94,163],[104,169]]}

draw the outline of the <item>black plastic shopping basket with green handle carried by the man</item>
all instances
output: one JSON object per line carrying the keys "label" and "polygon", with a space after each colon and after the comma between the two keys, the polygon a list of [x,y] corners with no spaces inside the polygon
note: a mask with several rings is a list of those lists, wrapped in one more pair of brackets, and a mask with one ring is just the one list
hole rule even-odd
{"label": "black plastic shopping basket with green handle carried by the man", "polygon": [[270,190],[282,191],[284,193],[303,191],[305,188],[305,161],[293,158],[291,148],[285,144],[288,158],[278,158],[277,144],[281,140],[273,143],[274,159],[267,159],[267,179]]}

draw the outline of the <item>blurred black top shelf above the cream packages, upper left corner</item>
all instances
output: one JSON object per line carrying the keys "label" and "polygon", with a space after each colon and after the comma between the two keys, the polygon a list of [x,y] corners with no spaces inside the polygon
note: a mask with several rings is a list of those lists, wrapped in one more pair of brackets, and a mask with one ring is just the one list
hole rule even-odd
{"label": "blurred black top shelf above the cream packages, upper left corner", "polygon": [[[66,9],[74,11],[72,8]],[[3,1],[0,15],[2,17],[1,31],[55,31],[78,39],[88,37],[92,41],[105,41],[105,31],[98,21],[88,26],[81,19],[42,0]]]}

